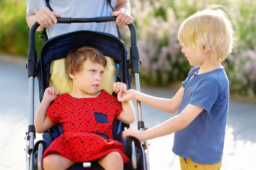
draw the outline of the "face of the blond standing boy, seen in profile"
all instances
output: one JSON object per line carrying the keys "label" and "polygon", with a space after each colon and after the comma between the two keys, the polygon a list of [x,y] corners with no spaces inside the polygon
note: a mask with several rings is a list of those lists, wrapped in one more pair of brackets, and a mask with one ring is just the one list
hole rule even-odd
{"label": "face of the blond standing boy, seen in profile", "polygon": [[189,64],[192,66],[201,65],[205,60],[205,55],[203,53],[203,48],[195,48],[192,45],[184,45],[181,52],[185,54],[189,60]]}

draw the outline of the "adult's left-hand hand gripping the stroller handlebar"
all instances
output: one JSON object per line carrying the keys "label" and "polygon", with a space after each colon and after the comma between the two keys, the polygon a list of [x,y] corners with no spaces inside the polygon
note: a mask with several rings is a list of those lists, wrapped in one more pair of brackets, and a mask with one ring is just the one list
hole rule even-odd
{"label": "adult's left-hand hand gripping the stroller handlebar", "polygon": [[54,23],[57,23],[56,17],[61,17],[61,14],[52,12],[48,7],[41,8],[35,14],[35,20],[43,27],[54,27]]}

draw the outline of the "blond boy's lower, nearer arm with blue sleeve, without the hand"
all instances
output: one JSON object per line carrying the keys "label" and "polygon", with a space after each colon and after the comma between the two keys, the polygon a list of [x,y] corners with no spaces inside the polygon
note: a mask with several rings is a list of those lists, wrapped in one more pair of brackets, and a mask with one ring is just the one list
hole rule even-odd
{"label": "blond boy's lower, nearer arm with blue sleeve, without the hand", "polygon": [[[223,86],[221,85],[221,81],[218,78],[209,77],[204,79],[204,81],[198,85],[198,90],[191,96],[189,104],[183,109],[183,111],[168,121],[163,122],[162,124],[149,130],[146,130],[145,133],[143,133],[143,136],[145,136],[144,140],[165,136],[185,128],[203,110],[207,111],[207,113],[210,113],[212,106],[218,100],[221,94],[223,94]],[[225,99],[228,100],[228,97]]]}

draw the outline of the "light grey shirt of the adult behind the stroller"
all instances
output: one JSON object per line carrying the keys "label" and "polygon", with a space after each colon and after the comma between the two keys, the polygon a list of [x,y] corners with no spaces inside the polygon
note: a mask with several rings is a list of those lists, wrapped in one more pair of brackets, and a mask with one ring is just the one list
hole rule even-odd
{"label": "light grey shirt of the adult behind the stroller", "polygon": [[[117,0],[111,0],[111,6],[116,6]],[[50,0],[52,10],[60,13],[61,17],[89,18],[111,16],[113,10],[107,0]],[[27,0],[26,14],[37,14],[46,6],[45,0]],[[91,30],[100,31],[117,36],[116,24],[108,23],[72,23],[55,24],[54,27],[46,28],[48,38],[55,37],[72,31]]]}

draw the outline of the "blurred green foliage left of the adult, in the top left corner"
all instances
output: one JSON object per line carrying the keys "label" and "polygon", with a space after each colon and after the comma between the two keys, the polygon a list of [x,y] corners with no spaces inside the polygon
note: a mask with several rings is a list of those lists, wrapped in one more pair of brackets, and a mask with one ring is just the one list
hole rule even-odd
{"label": "blurred green foliage left of the adult, in the top left corner", "polygon": [[[26,23],[26,0],[6,0],[0,4],[0,53],[27,56],[29,28]],[[40,55],[44,40],[35,34]]]}

